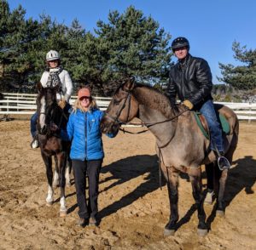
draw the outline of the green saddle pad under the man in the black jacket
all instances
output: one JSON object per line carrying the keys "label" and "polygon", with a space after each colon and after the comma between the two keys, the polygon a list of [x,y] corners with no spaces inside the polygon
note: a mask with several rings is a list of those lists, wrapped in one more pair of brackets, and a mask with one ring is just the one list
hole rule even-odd
{"label": "green saddle pad under the man in the black jacket", "polygon": [[[197,125],[201,129],[202,134],[204,134],[204,136],[207,139],[210,139],[210,132],[209,132],[209,128],[208,128],[207,120],[205,116],[203,116],[199,111],[193,111],[193,113],[195,116],[195,121],[197,122]],[[218,122],[220,123],[220,127],[223,133],[230,134],[230,123],[228,122],[226,117],[220,114],[218,111],[216,111],[216,115],[218,117]]]}

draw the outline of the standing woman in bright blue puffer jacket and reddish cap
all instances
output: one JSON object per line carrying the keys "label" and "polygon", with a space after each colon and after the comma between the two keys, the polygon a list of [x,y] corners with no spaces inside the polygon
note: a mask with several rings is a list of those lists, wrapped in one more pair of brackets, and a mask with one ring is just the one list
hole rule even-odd
{"label": "standing woman in bright blue puffer jacket and reddish cap", "polygon": [[[91,97],[90,88],[79,90],[78,99],[73,104],[73,112],[67,123],[68,138],[72,140],[72,159],[77,201],[79,205],[78,224],[97,224],[99,174],[104,157],[100,122],[103,112]],[[114,137],[116,134],[108,134]],[[86,203],[86,173],[89,179],[89,202]]]}

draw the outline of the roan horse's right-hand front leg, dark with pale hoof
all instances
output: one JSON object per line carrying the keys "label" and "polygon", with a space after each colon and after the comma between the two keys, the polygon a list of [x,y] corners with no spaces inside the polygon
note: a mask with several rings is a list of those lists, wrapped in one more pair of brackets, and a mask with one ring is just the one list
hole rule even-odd
{"label": "roan horse's right-hand front leg, dark with pale hoof", "polygon": [[199,224],[197,226],[197,232],[199,236],[207,235],[207,224],[206,224],[206,213],[203,207],[204,197],[202,194],[201,185],[201,168],[189,168],[188,170],[189,179],[192,185],[193,197],[198,212]]}

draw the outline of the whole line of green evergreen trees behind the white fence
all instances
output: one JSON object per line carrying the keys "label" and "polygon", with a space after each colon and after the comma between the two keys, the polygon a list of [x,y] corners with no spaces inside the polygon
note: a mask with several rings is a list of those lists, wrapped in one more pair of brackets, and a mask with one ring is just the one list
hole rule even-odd
{"label": "whole line of green evergreen trees behind the white fence", "polygon": [[[55,49],[69,71],[75,88],[90,84],[94,94],[112,95],[126,78],[161,88],[172,65],[171,35],[151,16],[128,7],[112,11],[108,21],[97,21],[94,34],[73,20],[71,26],[42,14],[25,18],[19,5],[10,10],[0,0],[0,91],[36,92],[45,69],[45,54]],[[219,80],[239,89],[256,88],[256,50],[233,43],[235,57],[243,65],[219,64]]]}

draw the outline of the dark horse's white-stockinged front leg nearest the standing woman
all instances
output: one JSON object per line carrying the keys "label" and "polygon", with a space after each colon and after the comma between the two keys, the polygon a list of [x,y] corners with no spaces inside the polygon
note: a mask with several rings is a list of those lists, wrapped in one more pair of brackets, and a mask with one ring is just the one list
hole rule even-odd
{"label": "dark horse's white-stockinged front leg nearest the standing woman", "polygon": [[65,168],[66,168],[66,153],[61,152],[57,155],[57,161],[59,166],[59,178],[60,178],[60,188],[61,188],[61,208],[60,208],[60,216],[65,217],[67,215],[67,207],[66,207],[66,198],[65,198],[65,185],[66,185],[66,179],[65,179]]}

